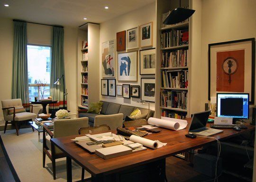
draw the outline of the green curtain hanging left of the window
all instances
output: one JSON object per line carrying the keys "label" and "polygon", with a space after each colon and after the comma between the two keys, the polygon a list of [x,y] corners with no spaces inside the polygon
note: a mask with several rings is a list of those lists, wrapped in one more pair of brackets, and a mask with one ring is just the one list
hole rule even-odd
{"label": "green curtain hanging left of the window", "polygon": [[27,75],[27,23],[14,21],[13,37],[13,69],[12,69],[12,99],[21,99],[23,104],[28,99]]}

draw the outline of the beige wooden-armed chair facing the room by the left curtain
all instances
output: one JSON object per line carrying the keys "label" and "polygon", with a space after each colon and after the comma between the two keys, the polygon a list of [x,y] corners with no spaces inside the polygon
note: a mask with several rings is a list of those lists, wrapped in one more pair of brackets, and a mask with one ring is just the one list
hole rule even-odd
{"label": "beige wooden-armed chair facing the room by the left curtain", "polygon": [[[26,110],[23,109],[23,108],[28,108],[30,106],[31,106],[30,112],[26,112]],[[3,109],[4,120],[5,120],[4,133],[6,131],[7,124],[12,123],[15,125],[16,133],[18,135],[18,129],[19,129],[18,125],[20,121],[31,121],[32,118],[37,117],[37,114],[32,113],[33,105],[22,106],[21,99],[2,100],[2,109]],[[32,129],[34,131],[33,127]]]}

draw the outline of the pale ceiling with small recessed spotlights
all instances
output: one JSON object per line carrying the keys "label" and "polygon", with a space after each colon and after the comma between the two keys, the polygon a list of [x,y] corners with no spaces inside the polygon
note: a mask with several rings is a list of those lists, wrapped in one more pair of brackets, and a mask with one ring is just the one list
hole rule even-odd
{"label": "pale ceiling with small recessed spotlights", "polygon": [[[0,16],[79,27],[86,22],[107,21],[153,2],[155,0],[0,0]],[[104,9],[105,6],[109,9]]]}

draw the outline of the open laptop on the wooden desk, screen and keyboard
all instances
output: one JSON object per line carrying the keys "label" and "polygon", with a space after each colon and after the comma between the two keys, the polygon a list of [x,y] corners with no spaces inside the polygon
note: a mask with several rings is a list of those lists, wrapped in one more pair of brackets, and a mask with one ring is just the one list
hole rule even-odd
{"label": "open laptop on the wooden desk, screen and keyboard", "polygon": [[206,127],[209,116],[210,110],[194,113],[190,123],[189,133],[205,137],[222,133],[223,130]]}

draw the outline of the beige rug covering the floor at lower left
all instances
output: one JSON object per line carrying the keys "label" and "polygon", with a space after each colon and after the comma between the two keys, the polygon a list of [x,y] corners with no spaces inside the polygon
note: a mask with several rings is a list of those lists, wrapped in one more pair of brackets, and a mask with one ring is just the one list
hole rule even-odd
{"label": "beige rug covering the floor at lower left", "polygon": [[[15,130],[8,130],[5,134],[0,132],[4,146],[11,163],[21,182],[66,182],[66,160],[56,160],[56,180],[52,176],[52,164],[46,155],[46,168],[43,168],[42,139],[38,142],[38,132],[31,128],[19,130],[19,136]],[[42,133],[40,134],[42,138]],[[82,168],[72,163],[73,181],[81,180]],[[85,172],[86,178],[91,177]]]}

